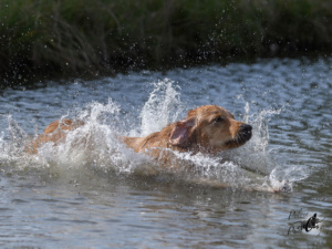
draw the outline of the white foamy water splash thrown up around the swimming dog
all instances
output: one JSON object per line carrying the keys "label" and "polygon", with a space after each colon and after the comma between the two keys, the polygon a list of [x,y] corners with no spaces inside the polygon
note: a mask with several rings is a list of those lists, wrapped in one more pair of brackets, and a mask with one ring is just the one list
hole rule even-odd
{"label": "white foamy water splash thrown up around the swimming dog", "polygon": [[[168,123],[179,120],[185,111],[180,102],[180,89],[173,81],[165,79],[153,84],[154,90],[141,112],[141,136],[160,131]],[[268,122],[281,111],[262,110],[251,114],[250,105],[246,103],[243,121],[253,126],[253,136],[249,143],[222,152],[217,157],[173,152],[180,167],[168,169],[162,168],[158,162],[144,154],[134,153],[118,139],[122,132],[131,135],[136,131],[122,127],[124,121],[121,106],[111,98],[106,104],[93,102],[77,111],[73,118],[84,121],[84,125],[68,133],[65,143],[45,144],[33,156],[24,154],[24,143],[29,135],[10,117],[11,139],[6,141],[3,134],[0,137],[0,165],[1,168],[4,168],[3,165],[15,165],[24,170],[31,167],[48,168],[56,170],[58,175],[68,175],[71,170],[71,176],[85,172],[90,178],[94,177],[93,172],[104,176],[153,176],[168,173],[173,179],[211,186],[277,189],[282,187],[283,180],[288,180],[291,187],[293,181],[308,175],[297,176],[293,169],[280,166],[269,151]],[[68,115],[62,118],[68,118]],[[15,156],[12,152],[15,152]]]}

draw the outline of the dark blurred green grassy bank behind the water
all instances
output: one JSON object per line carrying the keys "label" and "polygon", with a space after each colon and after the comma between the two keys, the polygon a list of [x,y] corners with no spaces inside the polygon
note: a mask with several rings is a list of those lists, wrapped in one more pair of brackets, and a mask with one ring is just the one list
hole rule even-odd
{"label": "dark blurred green grassy bank behind the water", "polygon": [[331,0],[0,0],[0,75],[332,51]]}

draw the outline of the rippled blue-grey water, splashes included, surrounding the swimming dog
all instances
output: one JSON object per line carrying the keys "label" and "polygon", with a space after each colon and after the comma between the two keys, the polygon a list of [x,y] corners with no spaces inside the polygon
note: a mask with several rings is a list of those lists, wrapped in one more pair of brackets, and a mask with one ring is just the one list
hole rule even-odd
{"label": "rippled blue-grey water, splashes included, surrounding the swimming dog", "polygon": [[[331,70],[330,59],[259,60],[4,90],[0,245],[332,247]],[[216,157],[175,153],[183,167],[165,169],[116,139],[205,104],[250,123],[250,142]],[[24,152],[64,117],[85,125],[64,144]],[[288,191],[269,191],[286,181]],[[324,219],[318,228],[299,229],[313,214]]]}

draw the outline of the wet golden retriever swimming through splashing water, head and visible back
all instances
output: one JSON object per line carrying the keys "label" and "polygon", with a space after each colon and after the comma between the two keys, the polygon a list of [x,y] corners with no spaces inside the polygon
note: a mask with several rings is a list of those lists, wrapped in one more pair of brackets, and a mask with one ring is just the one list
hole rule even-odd
{"label": "wet golden retriever swimming through splashing water, head and visible back", "polygon": [[[44,134],[34,139],[29,152],[38,153],[38,148],[44,143],[62,143],[69,131],[83,124],[66,118],[52,122]],[[136,153],[147,153],[154,158],[160,158],[164,148],[216,155],[218,152],[243,145],[250,139],[251,129],[250,125],[236,121],[227,110],[217,105],[204,105],[189,111],[185,120],[169,124],[160,132],[146,137],[124,136],[120,139]],[[168,154],[163,155],[166,157],[163,159],[167,160]]]}

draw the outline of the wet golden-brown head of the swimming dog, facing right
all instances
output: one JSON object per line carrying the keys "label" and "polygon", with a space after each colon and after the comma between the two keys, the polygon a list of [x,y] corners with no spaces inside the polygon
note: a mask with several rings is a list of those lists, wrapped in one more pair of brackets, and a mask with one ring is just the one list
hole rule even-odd
{"label": "wet golden-brown head of the swimming dog, facing right", "polygon": [[218,153],[243,145],[250,139],[251,129],[250,125],[236,121],[227,110],[205,105],[189,111],[186,120],[174,124],[169,143]]}

